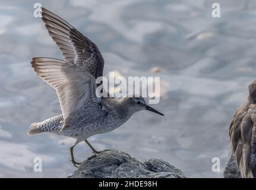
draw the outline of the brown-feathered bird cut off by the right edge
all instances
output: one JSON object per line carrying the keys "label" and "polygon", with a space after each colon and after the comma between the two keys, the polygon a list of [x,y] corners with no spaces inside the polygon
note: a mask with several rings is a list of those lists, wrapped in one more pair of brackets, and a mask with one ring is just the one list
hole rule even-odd
{"label": "brown-feathered bird cut off by the right edge", "polygon": [[242,177],[256,178],[256,80],[249,85],[246,103],[233,115],[229,136]]}

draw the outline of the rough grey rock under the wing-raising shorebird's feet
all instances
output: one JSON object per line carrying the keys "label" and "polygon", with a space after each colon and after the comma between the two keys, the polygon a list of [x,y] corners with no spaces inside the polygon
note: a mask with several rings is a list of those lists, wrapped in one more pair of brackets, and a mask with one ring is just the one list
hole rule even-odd
{"label": "rough grey rock under the wing-raising shorebird's feet", "polygon": [[185,175],[161,159],[140,162],[122,151],[105,150],[89,157],[68,178],[185,178]]}

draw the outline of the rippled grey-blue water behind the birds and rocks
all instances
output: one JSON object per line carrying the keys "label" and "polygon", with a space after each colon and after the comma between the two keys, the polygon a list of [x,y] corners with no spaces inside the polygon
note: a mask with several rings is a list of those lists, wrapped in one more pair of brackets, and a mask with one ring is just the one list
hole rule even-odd
{"label": "rippled grey-blue water behind the birds and rocks", "polygon": [[[55,91],[31,69],[35,56],[60,58],[43,22],[33,17],[41,1],[2,1],[0,7],[0,177],[67,177],[74,171],[74,140],[28,136],[31,123],[61,113]],[[42,5],[90,37],[105,58],[105,73],[160,75],[165,117],[140,112],[123,126],[89,141],[140,160],[160,157],[188,177],[222,177],[229,151],[229,122],[256,77],[256,3],[217,1],[43,1]],[[150,69],[160,66],[161,72]],[[89,157],[85,143],[77,160]],[[33,159],[43,172],[33,171]],[[219,157],[222,172],[211,172]]]}

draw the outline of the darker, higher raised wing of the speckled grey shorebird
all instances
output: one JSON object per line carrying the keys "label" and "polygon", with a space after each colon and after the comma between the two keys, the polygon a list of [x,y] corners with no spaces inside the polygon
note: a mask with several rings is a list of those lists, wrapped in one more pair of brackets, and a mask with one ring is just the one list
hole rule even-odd
{"label": "darker, higher raised wing of the speckled grey shorebird", "polygon": [[83,66],[95,78],[102,76],[104,59],[98,47],[88,37],[43,7],[42,20],[65,61]]}

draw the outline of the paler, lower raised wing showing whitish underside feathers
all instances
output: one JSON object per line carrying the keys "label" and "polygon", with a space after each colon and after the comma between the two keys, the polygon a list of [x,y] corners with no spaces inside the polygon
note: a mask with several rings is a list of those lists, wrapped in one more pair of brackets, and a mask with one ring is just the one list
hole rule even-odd
{"label": "paler, lower raised wing showing whitish underside feathers", "polygon": [[74,110],[84,106],[99,106],[101,99],[96,96],[96,83],[93,75],[85,68],[70,62],[52,58],[33,58],[32,67],[36,74],[55,88],[64,116],[67,118]]}

